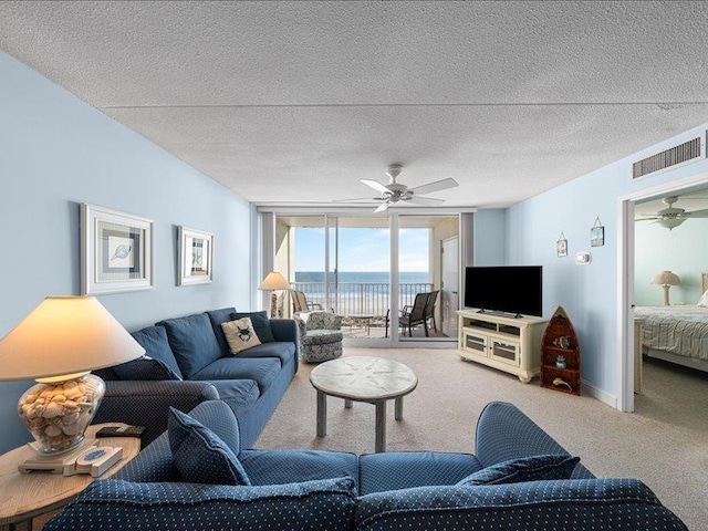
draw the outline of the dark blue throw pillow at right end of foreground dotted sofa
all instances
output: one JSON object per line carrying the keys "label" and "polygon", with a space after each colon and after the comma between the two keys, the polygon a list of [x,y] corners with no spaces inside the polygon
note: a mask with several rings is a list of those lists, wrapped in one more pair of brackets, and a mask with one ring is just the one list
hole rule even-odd
{"label": "dark blue throw pillow at right end of foreground dotted sofa", "polygon": [[482,468],[460,480],[457,485],[501,485],[546,479],[570,479],[577,461],[580,461],[580,457],[563,454],[522,457]]}

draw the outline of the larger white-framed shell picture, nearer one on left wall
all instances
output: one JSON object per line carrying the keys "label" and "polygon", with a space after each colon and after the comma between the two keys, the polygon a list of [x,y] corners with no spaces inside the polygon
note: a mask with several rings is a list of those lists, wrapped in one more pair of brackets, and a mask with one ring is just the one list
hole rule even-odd
{"label": "larger white-framed shell picture, nearer one on left wall", "polygon": [[81,293],[153,289],[153,220],[81,205]]}

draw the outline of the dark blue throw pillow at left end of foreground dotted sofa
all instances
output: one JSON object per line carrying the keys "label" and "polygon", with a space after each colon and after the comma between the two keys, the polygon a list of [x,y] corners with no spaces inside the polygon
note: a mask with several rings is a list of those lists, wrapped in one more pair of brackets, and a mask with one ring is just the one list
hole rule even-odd
{"label": "dark blue throw pillow at left end of foreground dotted sofa", "polygon": [[169,448],[185,481],[212,485],[251,485],[236,454],[221,438],[174,407],[167,417]]}

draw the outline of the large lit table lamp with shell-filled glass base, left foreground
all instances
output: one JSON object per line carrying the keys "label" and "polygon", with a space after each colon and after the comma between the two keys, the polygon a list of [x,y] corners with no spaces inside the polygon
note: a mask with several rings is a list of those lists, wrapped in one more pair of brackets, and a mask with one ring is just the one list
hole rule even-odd
{"label": "large lit table lamp with shell-filled glass base, left foreground", "polygon": [[105,384],[91,369],[129,362],[145,350],[93,296],[48,296],[0,340],[0,381],[35,378],[18,415],[40,455],[79,447]]}

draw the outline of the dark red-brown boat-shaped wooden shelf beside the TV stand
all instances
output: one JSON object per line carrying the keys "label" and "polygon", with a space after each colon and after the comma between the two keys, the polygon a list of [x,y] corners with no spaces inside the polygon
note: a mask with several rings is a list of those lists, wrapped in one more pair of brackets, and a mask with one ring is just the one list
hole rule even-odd
{"label": "dark red-brown boat-shaped wooden shelf beside the TV stand", "polygon": [[580,345],[573,324],[561,306],[541,340],[541,387],[580,396]]}

